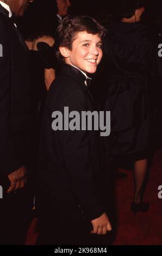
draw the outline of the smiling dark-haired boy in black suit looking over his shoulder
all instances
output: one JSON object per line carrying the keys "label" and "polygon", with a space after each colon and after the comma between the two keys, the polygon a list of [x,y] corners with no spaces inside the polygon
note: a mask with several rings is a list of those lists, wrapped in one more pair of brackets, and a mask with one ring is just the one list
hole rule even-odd
{"label": "smiling dark-haired boy in black suit looking over his shoulder", "polygon": [[[52,83],[43,116],[39,153],[38,244],[84,245],[111,230],[101,203],[99,132],[52,130],[52,113],[95,110],[88,84],[102,58],[104,28],[87,16],[67,16],[55,36],[64,63]],[[65,120],[64,120],[65,121]],[[91,240],[94,243],[93,239]]]}

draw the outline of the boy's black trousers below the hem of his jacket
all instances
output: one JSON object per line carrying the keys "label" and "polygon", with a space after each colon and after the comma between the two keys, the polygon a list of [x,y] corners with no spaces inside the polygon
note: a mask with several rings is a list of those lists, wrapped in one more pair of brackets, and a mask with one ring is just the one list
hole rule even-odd
{"label": "boy's black trousers below the hem of his jacket", "polygon": [[84,222],[61,222],[59,226],[50,222],[46,227],[41,227],[36,245],[109,245],[109,234],[92,235],[90,225]]}

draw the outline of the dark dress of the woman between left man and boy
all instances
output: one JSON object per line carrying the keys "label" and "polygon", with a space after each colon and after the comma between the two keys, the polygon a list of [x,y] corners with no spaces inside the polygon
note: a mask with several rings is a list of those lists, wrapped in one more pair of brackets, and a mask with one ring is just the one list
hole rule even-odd
{"label": "dark dress of the woman between left man and boy", "polygon": [[[47,89],[45,85],[45,69],[55,69],[54,51],[45,42],[39,42],[38,51],[30,50],[30,101],[32,103],[32,166],[36,170],[38,145],[40,137],[40,127],[43,115],[43,109],[45,107],[45,101],[47,96]],[[33,192],[35,193],[36,175],[32,177]]]}

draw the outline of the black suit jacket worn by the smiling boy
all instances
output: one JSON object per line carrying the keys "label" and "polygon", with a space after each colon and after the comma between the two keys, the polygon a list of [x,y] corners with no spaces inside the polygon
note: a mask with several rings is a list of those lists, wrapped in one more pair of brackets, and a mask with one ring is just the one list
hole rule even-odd
{"label": "black suit jacket worn by the smiling boy", "polygon": [[65,64],[52,83],[43,115],[39,151],[40,204],[45,211],[59,211],[59,216],[61,211],[66,217],[69,213],[68,218],[73,220],[78,208],[88,220],[104,212],[99,132],[52,130],[52,113],[64,113],[65,106],[69,112],[94,111],[94,102],[84,81],[82,72]]}

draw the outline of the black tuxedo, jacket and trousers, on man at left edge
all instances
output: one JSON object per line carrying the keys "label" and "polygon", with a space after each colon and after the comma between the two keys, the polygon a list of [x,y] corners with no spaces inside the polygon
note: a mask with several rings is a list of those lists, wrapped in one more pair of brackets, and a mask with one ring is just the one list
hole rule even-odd
{"label": "black tuxedo, jacket and trousers, on man at left edge", "polygon": [[28,205],[24,197],[25,188],[9,195],[5,194],[5,190],[9,187],[8,175],[27,162],[30,130],[29,55],[8,11],[1,4],[0,44],[3,48],[3,56],[0,57],[0,185],[3,186],[0,244],[11,244],[20,242],[17,236],[22,236],[24,212]]}

